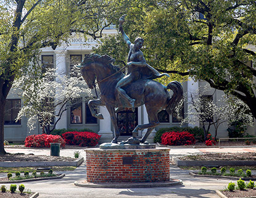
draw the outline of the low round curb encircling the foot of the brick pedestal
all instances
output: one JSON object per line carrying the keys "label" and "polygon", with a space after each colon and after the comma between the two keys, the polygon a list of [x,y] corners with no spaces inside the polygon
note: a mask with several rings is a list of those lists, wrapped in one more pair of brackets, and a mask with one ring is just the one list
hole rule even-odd
{"label": "low round curb encircling the foot of the brick pedestal", "polygon": [[75,181],[75,186],[85,187],[85,188],[156,188],[156,187],[168,187],[183,184],[181,179],[170,179],[170,181],[165,182],[155,182],[155,183],[89,183],[84,181]]}

